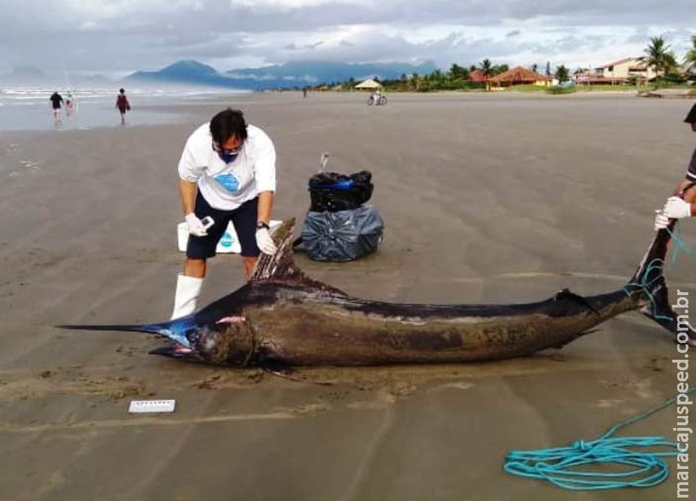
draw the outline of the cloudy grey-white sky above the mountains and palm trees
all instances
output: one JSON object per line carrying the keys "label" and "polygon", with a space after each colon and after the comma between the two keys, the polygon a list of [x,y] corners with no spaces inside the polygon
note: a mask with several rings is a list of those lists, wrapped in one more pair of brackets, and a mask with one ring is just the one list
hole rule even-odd
{"label": "cloudy grey-white sky above the mountains and palm trees", "polygon": [[484,58],[596,67],[661,36],[679,61],[694,0],[0,0],[0,73],[124,77],[195,59],[219,71],[289,61]]}

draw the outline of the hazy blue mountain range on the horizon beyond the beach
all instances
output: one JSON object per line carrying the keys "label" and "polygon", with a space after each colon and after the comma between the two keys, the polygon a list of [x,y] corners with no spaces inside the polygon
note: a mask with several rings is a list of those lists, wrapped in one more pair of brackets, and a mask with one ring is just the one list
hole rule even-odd
{"label": "hazy blue mountain range on the horizon beyond the beach", "polygon": [[425,74],[436,70],[432,62],[421,65],[408,63],[330,63],[304,61],[259,68],[244,68],[220,73],[214,67],[198,61],[179,61],[154,72],[139,71],[129,74],[126,81],[162,82],[169,84],[196,84],[264,90],[338,83],[368,77],[397,79],[402,74]]}

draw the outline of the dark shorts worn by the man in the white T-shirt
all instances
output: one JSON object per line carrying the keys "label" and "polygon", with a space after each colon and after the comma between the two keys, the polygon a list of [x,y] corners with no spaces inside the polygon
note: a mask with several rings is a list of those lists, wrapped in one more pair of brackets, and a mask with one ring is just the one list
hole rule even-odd
{"label": "dark shorts worn by the man in the white T-shirt", "polygon": [[261,253],[256,245],[256,220],[258,217],[258,197],[253,200],[248,200],[237,209],[230,211],[215,209],[210,207],[208,202],[200,194],[196,195],[196,208],[193,209],[199,219],[210,216],[215,223],[208,228],[205,237],[196,237],[189,235],[189,245],[186,248],[186,256],[190,259],[207,259],[213,257],[216,252],[218,242],[220,241],[227,225],[232,221],[237,232],[239,244],[242,246],[243,257],[258,257]]}

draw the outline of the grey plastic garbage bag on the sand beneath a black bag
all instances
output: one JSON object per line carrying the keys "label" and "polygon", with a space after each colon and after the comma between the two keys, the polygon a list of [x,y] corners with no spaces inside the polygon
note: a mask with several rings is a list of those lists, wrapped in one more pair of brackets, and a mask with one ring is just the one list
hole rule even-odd
{"label": "grey plastic garbage bag on the sand beneath a black bag", "polygon": [[298,250],[315,261],[352,261],[373,253],[382,241],[384,223],[372,205],[337,212],[308,212]]}

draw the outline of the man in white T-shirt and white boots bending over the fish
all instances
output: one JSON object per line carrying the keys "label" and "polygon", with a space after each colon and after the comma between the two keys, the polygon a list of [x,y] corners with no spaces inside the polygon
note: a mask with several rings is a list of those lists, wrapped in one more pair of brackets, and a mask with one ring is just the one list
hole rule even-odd
{"label": "man in white T-shirt and white boots bending over the fish", "polygon": [[184,273],[177,278],[172,319],[196,310],[206,260],[232,221],[246,278],[260,253],[274,254],[269,223],[276,191],[276,150],[242,111],[226,109],[198,127],[179,161],[179,194],[189,230]]}

